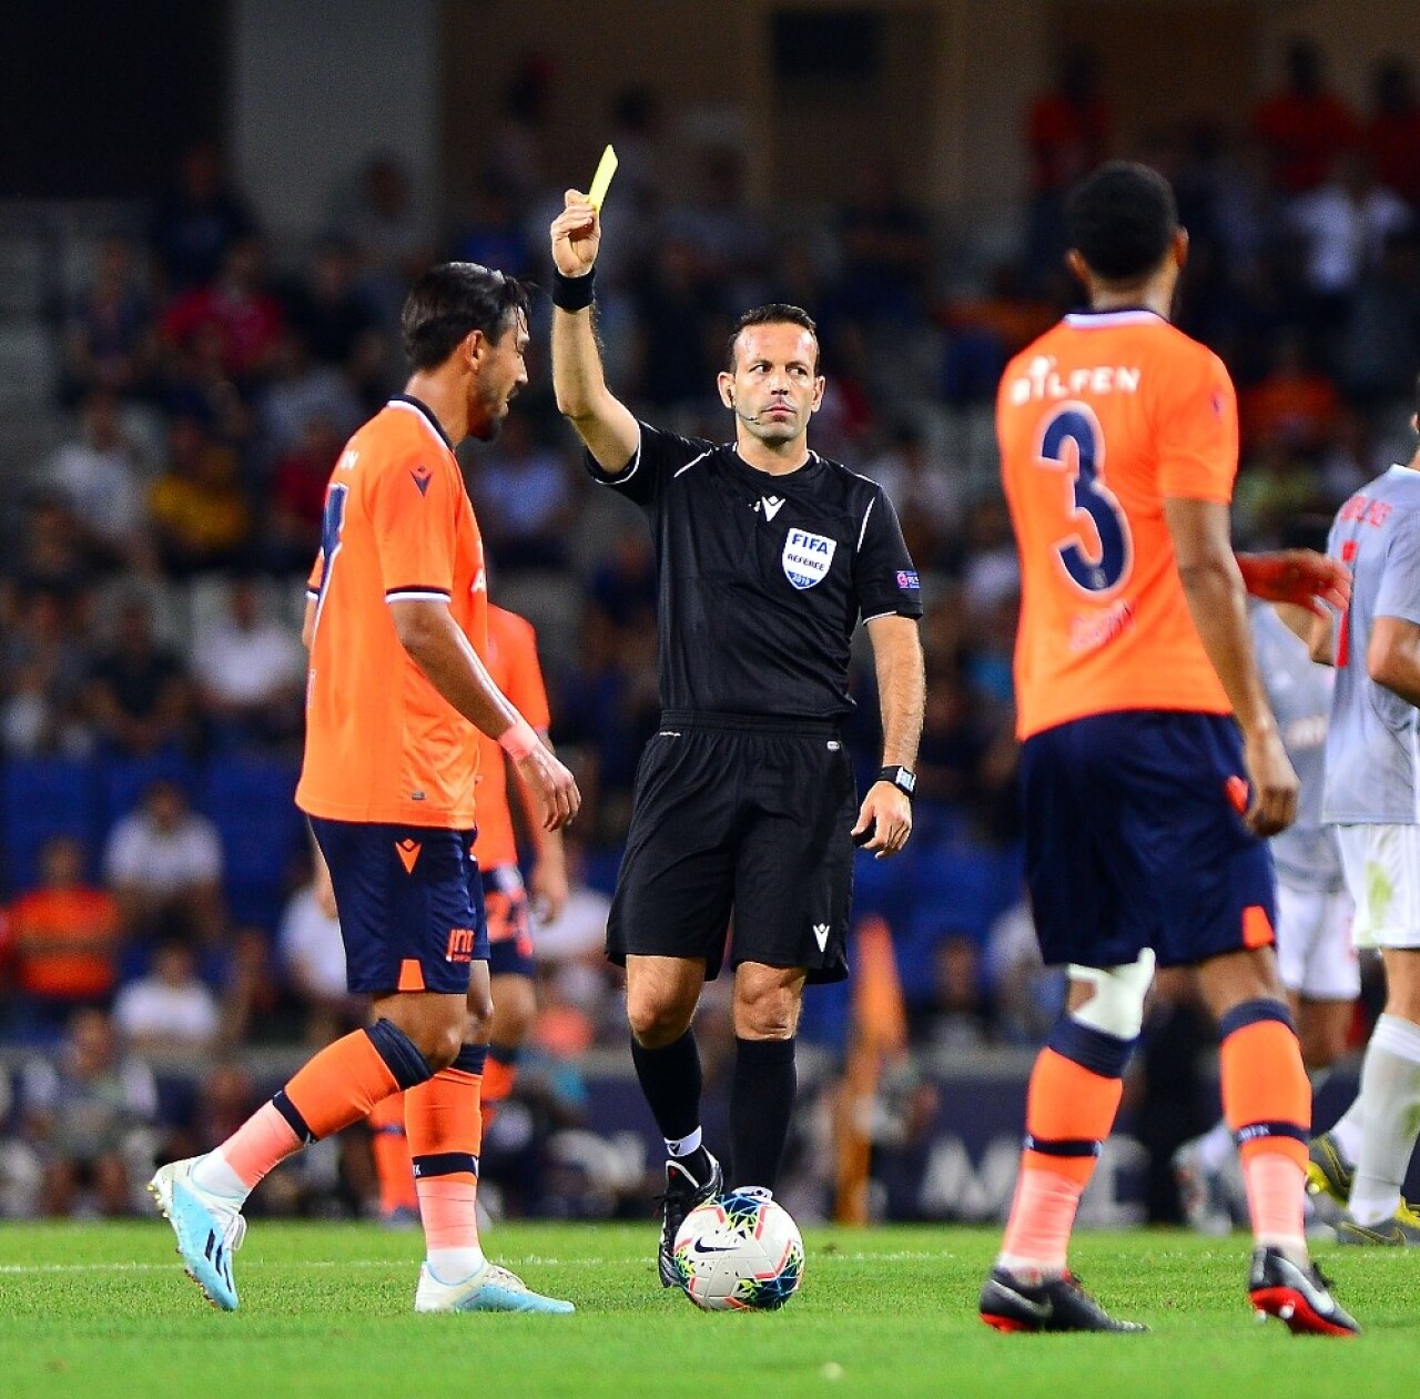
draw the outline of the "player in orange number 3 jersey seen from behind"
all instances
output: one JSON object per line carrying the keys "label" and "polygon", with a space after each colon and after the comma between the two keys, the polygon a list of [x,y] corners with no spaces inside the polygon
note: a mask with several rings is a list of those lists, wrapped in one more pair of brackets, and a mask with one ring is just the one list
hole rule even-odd
{"label": "player in orange number 3 jersey seen from behind", "polygon": [[1261,839],[1292,821],[1298,788],[1245,608],[1248,587],[1339,605],[1346,574],[1315,554],[1233,554],[1235,398],[1221,361],[1169,324],[1189,244],[1167,182],[1106,165],[1068,217],[1091,308],[1011,361],[997,432],[1022,577],[1027,879],[1045,962],[1071,964],[1071,996],[1031,1075],[981,1317],[1001,1331],[1145,1329],[1083,1291],[1066,1247],[1157,962],[1196,964],[1218,1021],[1254,1308],[1350,1335],[1302,1229],[1311,1087]]}

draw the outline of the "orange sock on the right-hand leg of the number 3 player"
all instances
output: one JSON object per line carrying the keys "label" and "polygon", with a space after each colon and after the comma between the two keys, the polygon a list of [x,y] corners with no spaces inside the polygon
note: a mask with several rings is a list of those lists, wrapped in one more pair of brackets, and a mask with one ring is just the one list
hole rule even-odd
{"label": "orange sock on the right-hand leg of the number 3 player", "polygon": [[1235,1006],[1218,1021],[1223,1115],[1238,1142],[1252,1234],[1260,1244],[1306,1251],[1302,1196],[1312,1085],[1281,1001]]}

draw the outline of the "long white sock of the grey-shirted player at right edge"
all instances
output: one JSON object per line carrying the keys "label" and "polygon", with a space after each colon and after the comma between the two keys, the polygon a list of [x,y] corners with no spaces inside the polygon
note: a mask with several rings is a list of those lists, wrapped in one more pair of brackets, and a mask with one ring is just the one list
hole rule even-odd
{"label": "long white sock of the grey-shirted player at right edge", "polygon": [[1350,1213],[1379,1224],[1396,1212],[1410,1153],[1420,1135],[1420,1025],[1382,1016],[1360,1065],[1365,1116]]}

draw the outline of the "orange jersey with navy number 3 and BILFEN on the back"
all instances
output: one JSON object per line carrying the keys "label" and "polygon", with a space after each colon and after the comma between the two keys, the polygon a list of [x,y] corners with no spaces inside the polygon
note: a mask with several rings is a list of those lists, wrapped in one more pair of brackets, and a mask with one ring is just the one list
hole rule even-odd
{"label": "orange jersey with navy number 3 and BILFEN on the back", "polygon": [[1122,709],[1231,713],[1163,516],[1166,497],[1233,497],[1218,356],[1152,311],[1068,315],[1007,365],[997,437],[1021,555],[1020,737]]}

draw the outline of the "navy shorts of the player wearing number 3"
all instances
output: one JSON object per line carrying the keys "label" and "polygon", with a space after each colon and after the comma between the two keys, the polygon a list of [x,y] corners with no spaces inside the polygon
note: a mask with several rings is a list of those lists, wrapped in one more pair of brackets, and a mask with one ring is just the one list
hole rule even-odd
{"label": "navy shorts of the player wearing number 3", "polygon": [[1238,811],[1227,716],[1095,714],[1021,747],[1025,878],[1048,964],[1186,966],[1274,942],[1272,856]]}

